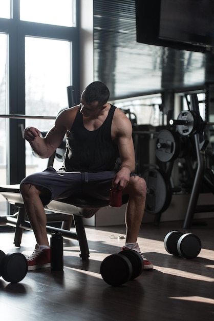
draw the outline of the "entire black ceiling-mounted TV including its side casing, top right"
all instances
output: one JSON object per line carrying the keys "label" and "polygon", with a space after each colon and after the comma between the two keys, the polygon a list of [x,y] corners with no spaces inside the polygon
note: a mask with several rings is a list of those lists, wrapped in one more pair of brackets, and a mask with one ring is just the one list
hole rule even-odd
{"label": "entire black ceiling-mounted TV including its side casing, top right", "polygon": [[136,0],[137,42],[207,52],[214,47],[213,0]]}

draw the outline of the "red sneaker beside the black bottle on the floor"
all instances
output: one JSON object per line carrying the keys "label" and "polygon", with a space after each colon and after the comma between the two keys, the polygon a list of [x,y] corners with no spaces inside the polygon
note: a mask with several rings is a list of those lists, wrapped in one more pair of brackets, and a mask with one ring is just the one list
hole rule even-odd
{"label": "red sneaker beside the black bottle on the floor", "polygon": [[40,249],[36,244],[33,254],[28,259],[28,271],[49,268],[51,266],[51,249]]}

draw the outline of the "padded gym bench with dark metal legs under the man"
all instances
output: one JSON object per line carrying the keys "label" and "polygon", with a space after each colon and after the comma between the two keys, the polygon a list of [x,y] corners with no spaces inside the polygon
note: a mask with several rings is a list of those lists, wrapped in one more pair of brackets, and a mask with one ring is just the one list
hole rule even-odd
{"label": "padded gym bench with dark metal legs under the man", "polygon": [[[19,184],[0,185],[0,194],[3,195],[9,204],[18,208],[13,215],[0,216],[0,225],[9,225],[15,227],[14,245],[20,247],[23,230],[31,230],[31,225],[25,212],[24,201],[19,192]],[[122,204],[126,204],[129,196],[122,197]],[[75,239],[79,242],[80,257],[82,260],[89,259],[89,247],[85,234],[83,218],[92,217],[97,211],[108,206],[109,201],[103,199],[74,198],[68,197],[63,199],[52,200],[45,206],[47,216],[47,233],[51,234],[55,230],[62,233],[67,239]],[[70,231],[72,218],[76,232]],[[61,228],[48,225],[50,222],[61,222]]]}

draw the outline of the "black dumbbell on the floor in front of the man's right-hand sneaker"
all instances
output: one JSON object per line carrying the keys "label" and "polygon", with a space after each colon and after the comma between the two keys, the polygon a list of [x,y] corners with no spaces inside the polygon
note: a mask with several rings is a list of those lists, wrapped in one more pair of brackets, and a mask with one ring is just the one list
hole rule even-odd
{"label": "black dumbbell on the floor in front of the man's right-hand sneaker", "polygon": [[106,283],[117,287],[139,276],[143,266],[140,253],[124,250],[105,257],[100,266],[100,273]]}

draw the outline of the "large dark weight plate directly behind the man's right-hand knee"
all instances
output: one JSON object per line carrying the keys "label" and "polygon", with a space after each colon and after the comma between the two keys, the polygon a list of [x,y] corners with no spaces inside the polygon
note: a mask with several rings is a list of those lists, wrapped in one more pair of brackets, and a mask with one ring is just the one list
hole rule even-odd
{"label": "large dark weight plate directly behind the man's right-hand knee", "polygon": [[163,213],[172,200],[169,178],[160,169],[148,169],[142,177],[147,185],[145,211],[150,214]]}

